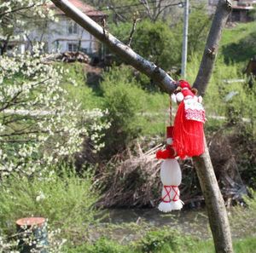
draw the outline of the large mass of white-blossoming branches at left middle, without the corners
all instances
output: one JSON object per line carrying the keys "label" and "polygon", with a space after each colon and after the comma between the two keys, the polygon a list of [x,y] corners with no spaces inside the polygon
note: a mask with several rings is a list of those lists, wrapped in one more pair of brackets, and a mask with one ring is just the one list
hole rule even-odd
{"label": "large mass of white-blossoming branches at left middle, without the corners", "polygon": [[66,101],[63,70],[45,64],[40,48],[34,49],[33,54],[0,58],[1,176],[42,170],[43,164],[77,152],[84,135],[100,148],[99,133],[108,127],[100,110],[81,112]]}

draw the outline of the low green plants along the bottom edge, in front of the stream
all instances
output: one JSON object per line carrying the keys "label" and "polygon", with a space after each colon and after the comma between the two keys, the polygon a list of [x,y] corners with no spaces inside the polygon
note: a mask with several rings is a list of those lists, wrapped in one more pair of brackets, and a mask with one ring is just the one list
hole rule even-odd
{"label": "low green plants along the bottom edge, in front of the stream", "polygon": [[[137,228],[143,229],[143,228]],[[141,239],[128,244],[121,244],[118,240],[104,236],[93,243],[70,246],[62,250],[63,253],[214,253],[211,239],[192,238],[170,227],[161,227],[143,233]],[[235,239],[236,253],[253,253],[256,241],[253,237]]]}

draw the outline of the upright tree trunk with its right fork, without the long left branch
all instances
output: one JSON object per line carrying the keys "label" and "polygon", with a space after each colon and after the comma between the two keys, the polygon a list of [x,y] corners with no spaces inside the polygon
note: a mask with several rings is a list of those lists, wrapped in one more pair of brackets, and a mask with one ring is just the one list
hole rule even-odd
{"label": "upright tree trunk with its right fork, without the long left branch", "polygon": [[[201,60],[201,66],[193,86],[198,89],[200,95],[205,94],[207,85],[212,76],[214,61],[218,52],[218,43],[230,11],[231,6],[229,1],[218,1],[216,14],[212,20],[212,26],[207,37],[207,44]],[[193,162],[195,164],[195,170],[199,177],[201,190],[207,204],[207,212],[215,250],[218,253],[231,253],[233,250],[230,224],[224,205],[224,199],[220,193],[218,181],[214,174],[206,141],[205,149],[206,152],[200,157],[194,157]]]}

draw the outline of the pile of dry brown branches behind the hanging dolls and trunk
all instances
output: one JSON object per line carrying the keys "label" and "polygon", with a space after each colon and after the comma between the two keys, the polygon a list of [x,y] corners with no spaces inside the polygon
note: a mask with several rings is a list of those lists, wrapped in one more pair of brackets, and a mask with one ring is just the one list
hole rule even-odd
{"label": "pile of dry brown branches behind the hanging dolls and trunk", "polygon": [[[208,138],[212,164],[228,205],[240,202],[242,195],[247,193],[234,152],[237,151],[234,148],[237,143],[232,141],[234,135],[223,135],[222,132]],[[163,144],[143,151],[141,144],[137,142],[132,149],[126,149],[114,156],[108,164],[102,165],[96,176],[103,193],[98,204],[104,207],[157,205],[161,182],[160,161],[155,159],[155,152],[161,147]],[[145,147],[144,149],[147,150]],[[192,160],[179,162],[183,173],[181,198],[189,207],[199,206],[203,203],[203,197]]]}

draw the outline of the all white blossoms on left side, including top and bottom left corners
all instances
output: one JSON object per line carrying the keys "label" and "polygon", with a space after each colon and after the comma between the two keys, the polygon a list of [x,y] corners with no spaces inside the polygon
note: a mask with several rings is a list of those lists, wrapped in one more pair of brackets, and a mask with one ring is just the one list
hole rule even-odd
{"label": "all white blossoms on left side, including top and bottom left corners", "polygon": [[[52,19],[45,0],[0,0],[0,47],[28,28],[26,16]],[[25,17],[25,19],[24,19]],[[40,176],[54,164],[73,158],[84,138],[96,152],[103,146],[105,112],[84,112],[66,100],[64,70],[45,61],[43,44],[32,52],[0,56],[0,185],[10,175]],[[44,178],[44,177],[42,177]],[[17,242],[15,242],[16,244]],[[10,252],[0,230],[0,252]]]}

